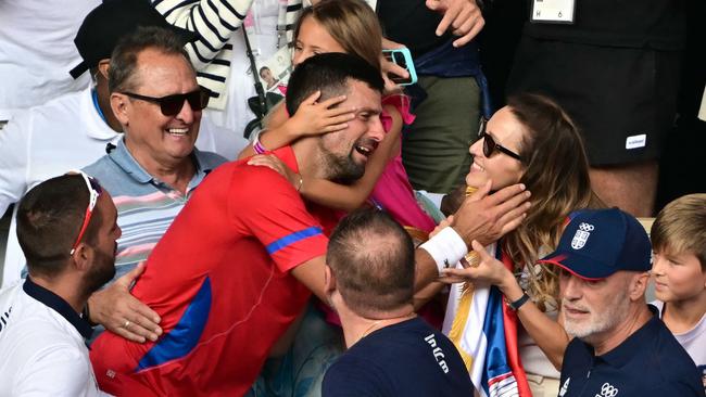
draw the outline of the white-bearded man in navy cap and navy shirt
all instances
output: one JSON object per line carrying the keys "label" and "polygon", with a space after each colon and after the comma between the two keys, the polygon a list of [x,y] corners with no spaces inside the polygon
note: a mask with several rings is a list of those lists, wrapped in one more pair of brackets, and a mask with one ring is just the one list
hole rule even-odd
{"label": "white-bearded man in navy cap and navy shirt", "polygon": [[543,262],[562,267],[559,397],[704,396],[696,366],[645,303],[647,233],[620,209],[572,214]]}

